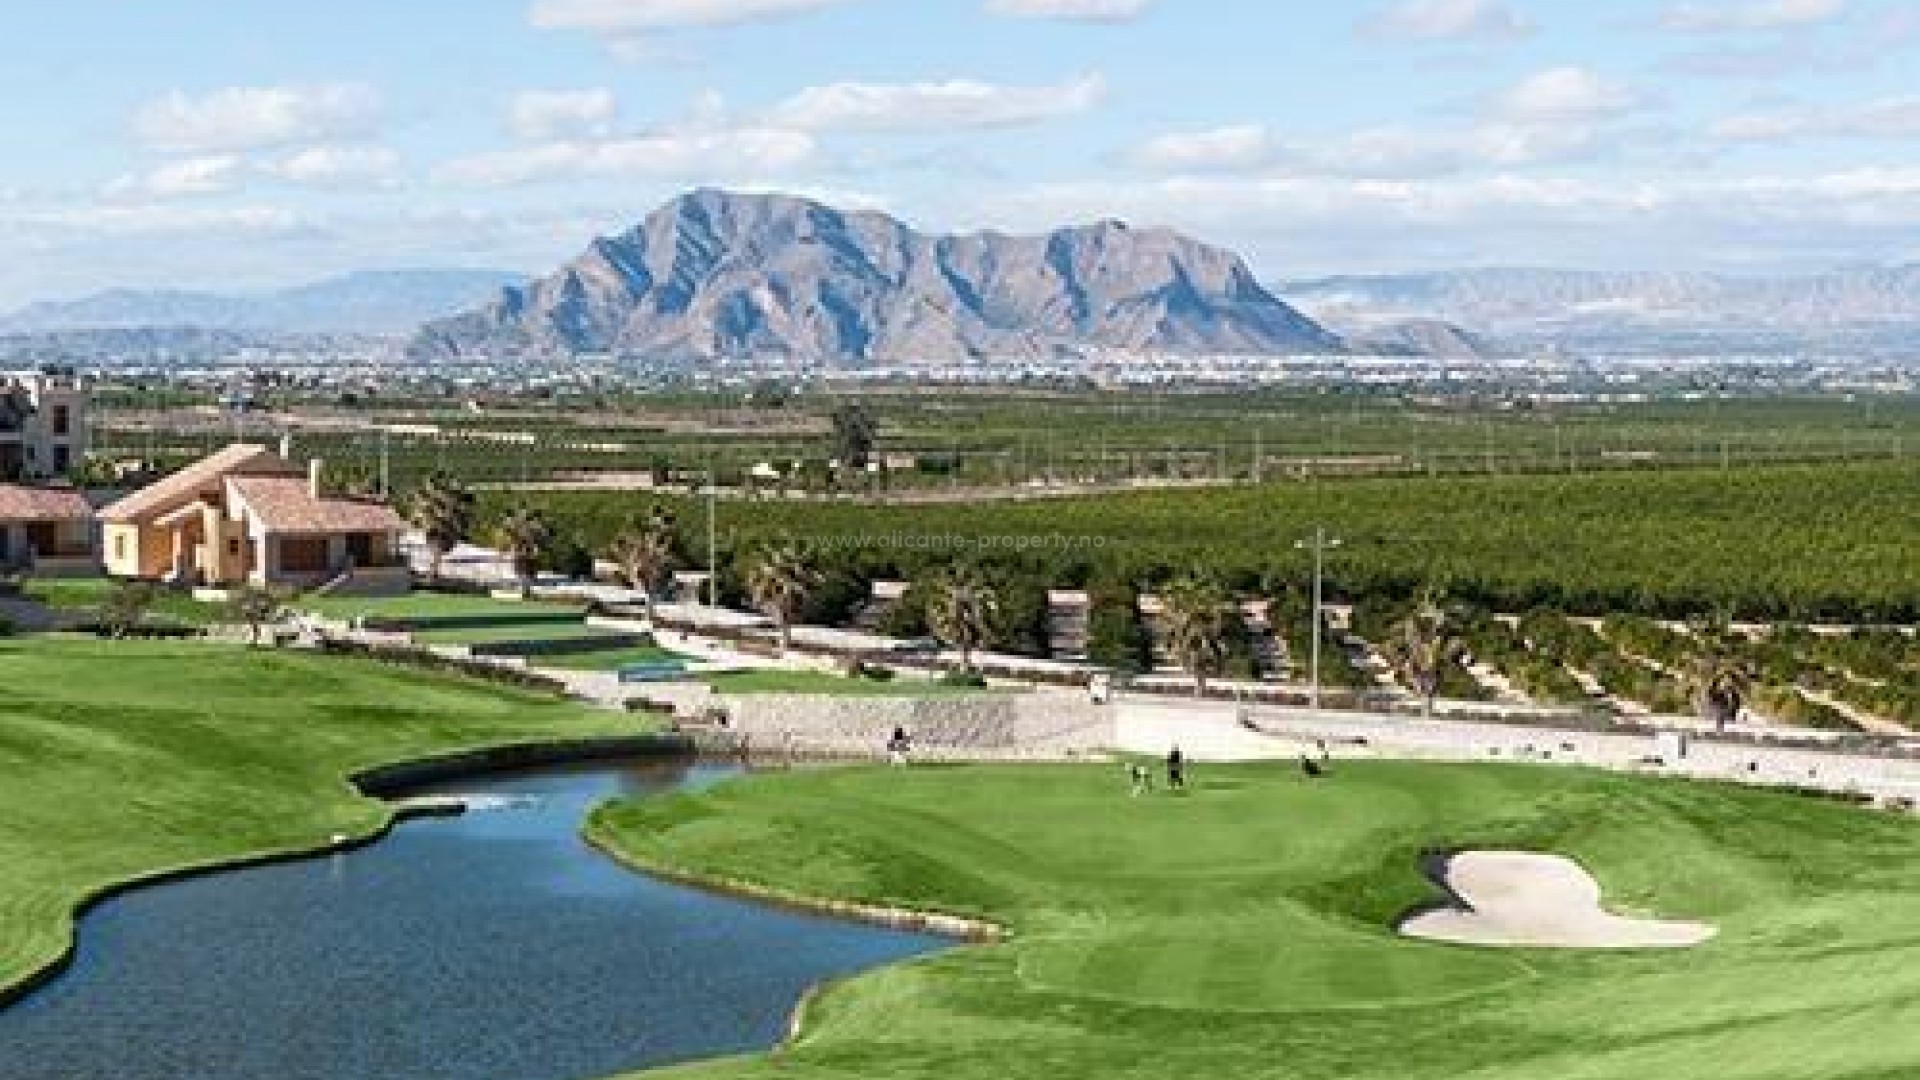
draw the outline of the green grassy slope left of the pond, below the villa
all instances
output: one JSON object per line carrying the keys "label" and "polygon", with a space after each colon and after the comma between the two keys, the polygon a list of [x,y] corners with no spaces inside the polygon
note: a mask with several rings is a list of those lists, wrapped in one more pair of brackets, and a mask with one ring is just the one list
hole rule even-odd
{"label": "green grassy slope left of the pond, below the villa", "polygon": [[157,871],[367,834],[359,769],[634,723],[359,661],[204,644],[0,642],[0,986],[83,897]]}

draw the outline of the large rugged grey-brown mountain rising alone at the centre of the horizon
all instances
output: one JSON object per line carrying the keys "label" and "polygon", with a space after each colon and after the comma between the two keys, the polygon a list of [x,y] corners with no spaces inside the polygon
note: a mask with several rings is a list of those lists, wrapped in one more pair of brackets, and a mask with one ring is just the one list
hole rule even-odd
{"label": "large rugged grey-brown mountain rising alone at the centre of the horizon", "polygon": [[1338,348],[1238,258],[1175,233],[1108,221],[933,236],[883,213],[699,190],[551,277],[428,325],[413,354],[914,365]]}

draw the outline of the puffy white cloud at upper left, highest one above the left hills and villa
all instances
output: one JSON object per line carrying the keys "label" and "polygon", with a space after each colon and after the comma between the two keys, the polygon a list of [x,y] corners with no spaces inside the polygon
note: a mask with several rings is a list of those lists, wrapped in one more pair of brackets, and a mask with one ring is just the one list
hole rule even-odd
{"label": "puffy white cloud at upper left, highest one above the left hills and villa", "polygon": [[134,115],[134,135],[167,154],[267,150],[369,135],[380,119],[371,86],[228,86],[175,90]]}

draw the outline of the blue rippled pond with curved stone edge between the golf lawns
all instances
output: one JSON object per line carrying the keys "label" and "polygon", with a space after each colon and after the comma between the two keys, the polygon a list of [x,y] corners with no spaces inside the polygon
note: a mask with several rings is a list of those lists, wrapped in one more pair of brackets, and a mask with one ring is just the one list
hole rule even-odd
{"label": "blue rippled pond with curved stone edge between the golf lawns", "polygon": [[672,886],[580,840],[607,798],[726,774],[445,784],[420,794],[492,809],[111,899],[71,970],[0,1011],[0,1080],[586,1080],[766,1049],[808,986],[948,944]]}

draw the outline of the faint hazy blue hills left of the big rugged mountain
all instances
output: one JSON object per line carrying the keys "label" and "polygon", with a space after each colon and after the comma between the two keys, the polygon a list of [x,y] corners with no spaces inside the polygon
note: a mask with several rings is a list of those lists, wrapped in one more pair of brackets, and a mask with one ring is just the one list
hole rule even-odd
{"label": "faint hazy blue hills left of the big rugged mountain", "polygon": [[263,294],[117,288],[0,317],[0,332],[196,329],[407,334],[524,281],[503,271],[367,271]]}

